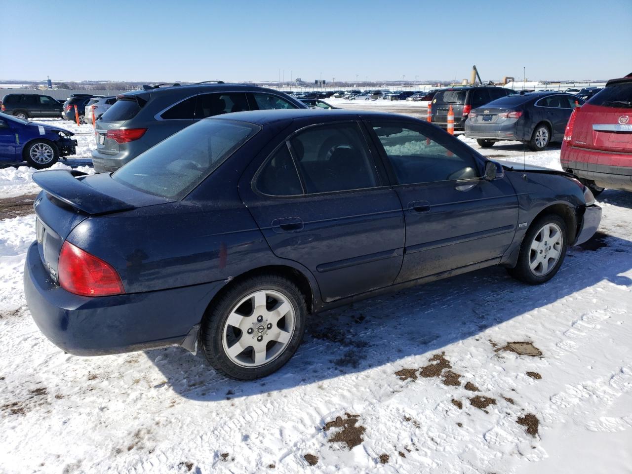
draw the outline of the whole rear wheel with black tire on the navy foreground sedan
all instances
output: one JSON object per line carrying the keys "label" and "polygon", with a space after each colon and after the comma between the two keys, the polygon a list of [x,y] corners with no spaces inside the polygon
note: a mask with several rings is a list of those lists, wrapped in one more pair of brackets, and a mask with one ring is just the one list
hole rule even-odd
{"label": "whole rear wheel with black tire on the navy foreground sedan", "polygon": [[276,372],[303,339],[305,296],[277,275],[249,278],[230,288],[202,322],[200,342],[210,365],[237,380]]}

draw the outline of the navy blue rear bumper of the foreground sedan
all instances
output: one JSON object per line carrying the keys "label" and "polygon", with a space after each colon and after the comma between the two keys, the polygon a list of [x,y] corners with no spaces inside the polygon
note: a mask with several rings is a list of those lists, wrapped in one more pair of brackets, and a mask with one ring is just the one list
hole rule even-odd
{"label": "navy blue rear bumper of the foreground sedan", "polygon": [[37,243],[24,269],[28,309],[40,331],[73,355],[116,354],[185,344],[223,282],[90,298],[68,293],[44,269]]}

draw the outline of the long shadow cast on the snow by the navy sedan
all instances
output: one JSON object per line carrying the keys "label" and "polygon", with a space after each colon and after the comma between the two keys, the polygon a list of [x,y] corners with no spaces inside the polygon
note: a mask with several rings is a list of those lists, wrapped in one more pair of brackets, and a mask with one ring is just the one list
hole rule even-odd
{"label": "long shadow cast on the snow by the navy sedan", "polygon": [[314,315],[295,356],[264,379],[223,377],[201,350],[196,356],[177,347],[145,354],[166,379],[156,388],[168,384],[197,401],[282,391],[387,364],[398,370],[403,358],[430,355],[601,281],[632,286],[622,275],[632,269],[632,241],[608,234],[600,239],[594,250],[569,250],[557,276],[542,286],[521,284],[492,267]]}

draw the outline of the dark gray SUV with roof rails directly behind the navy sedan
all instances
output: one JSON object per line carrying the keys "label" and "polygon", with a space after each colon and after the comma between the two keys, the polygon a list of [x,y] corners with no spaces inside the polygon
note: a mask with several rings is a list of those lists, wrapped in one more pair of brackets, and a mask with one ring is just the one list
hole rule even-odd
{"label": "dark gray SUV with roof rails directly behind the navy sedan", "polygon": [[156,143],[200,119],[263,109],[306,109],[276,90],[243,84],[145,86],[126,92],[97,120],[97,173],[116,171]]}

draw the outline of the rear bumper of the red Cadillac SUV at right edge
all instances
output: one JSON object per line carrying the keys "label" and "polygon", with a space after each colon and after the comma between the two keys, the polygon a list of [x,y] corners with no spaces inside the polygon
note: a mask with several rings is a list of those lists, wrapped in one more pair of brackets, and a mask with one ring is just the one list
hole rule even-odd
{"label": "rear bumper of the red Cadillac SUV at right edge", "polygon": [[[601,188],[632,191],[632,154],[600,152],[562,143],[562,169]],[[618,166],[629,164],[629,166]]]}

